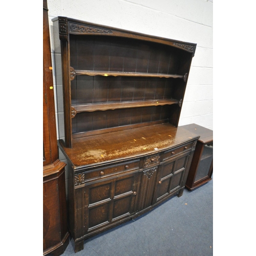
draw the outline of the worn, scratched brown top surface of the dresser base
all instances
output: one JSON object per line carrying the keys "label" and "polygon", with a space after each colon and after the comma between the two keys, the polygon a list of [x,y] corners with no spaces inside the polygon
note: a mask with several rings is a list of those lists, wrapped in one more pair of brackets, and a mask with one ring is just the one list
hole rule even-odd
{"label": "worn, scratched brown top surface of the dresser base", "polygon": [[162,123],[74,139],[72,148],[61,140],[58,144],[76,169],[157,153],[198,137],[182,127]]}

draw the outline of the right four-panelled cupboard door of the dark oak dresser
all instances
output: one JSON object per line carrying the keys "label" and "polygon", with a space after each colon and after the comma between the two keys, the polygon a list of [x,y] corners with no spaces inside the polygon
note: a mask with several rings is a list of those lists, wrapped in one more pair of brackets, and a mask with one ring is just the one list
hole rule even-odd
{"label": "right four-panelled cupboard door of the dark oak dresser", "polygon": [[154,203],[174,193],[183,186],[183,176],[188,163],[189,153],[168,162],[159,168]]}

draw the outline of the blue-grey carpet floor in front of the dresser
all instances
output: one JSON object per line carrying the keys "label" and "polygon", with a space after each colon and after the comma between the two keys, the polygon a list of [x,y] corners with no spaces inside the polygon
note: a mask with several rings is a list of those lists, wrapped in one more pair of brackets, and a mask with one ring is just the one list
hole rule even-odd
{"label": "blue-grey carpet floor in front of the dresser", "polygon": [[213,179],[184,190],[143,216],[84,241],[75,253],[71,239],[62,256],[213,255]]}

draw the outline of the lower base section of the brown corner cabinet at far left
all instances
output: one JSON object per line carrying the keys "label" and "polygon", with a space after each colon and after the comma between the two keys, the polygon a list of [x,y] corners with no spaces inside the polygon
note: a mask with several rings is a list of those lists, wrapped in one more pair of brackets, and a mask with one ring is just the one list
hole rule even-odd
{"label": "lower base section of the brown corner cabinet at far left", "polygon": [[58,256],[69,244],[65,188],[65,163],[44,167],[43,255]]}

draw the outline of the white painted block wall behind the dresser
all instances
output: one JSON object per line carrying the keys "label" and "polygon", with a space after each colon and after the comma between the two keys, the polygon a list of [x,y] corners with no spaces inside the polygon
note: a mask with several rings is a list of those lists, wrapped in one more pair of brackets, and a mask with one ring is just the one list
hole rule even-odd
{"label": "white painted block wall behind the dresser", "polygon": [[[60,57],[53,42],[51,19],[56,16],[196,43],[179,125],[197,123],[213,130],[212,1],[48,0],[53,62]],[[54,63],[53,74],[56,90],[61,81],[56,81]]]}

